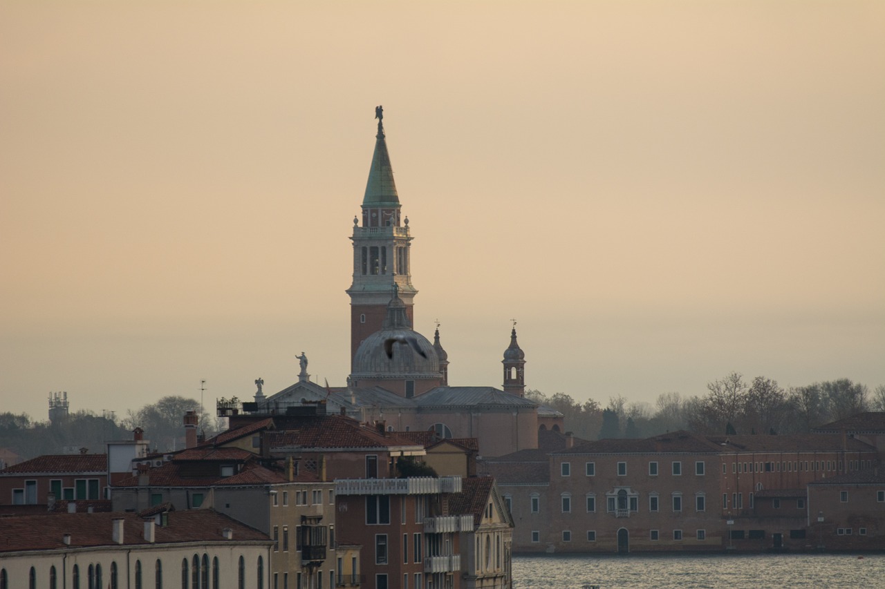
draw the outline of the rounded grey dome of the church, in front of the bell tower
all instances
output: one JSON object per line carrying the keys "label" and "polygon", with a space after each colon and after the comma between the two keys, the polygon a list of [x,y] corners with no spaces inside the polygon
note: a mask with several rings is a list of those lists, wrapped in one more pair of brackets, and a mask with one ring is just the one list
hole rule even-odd
{"label": "rounded grey dome of the church, in front of the bell tower", "polygon": [[[385,342],[395,340],[393,356],[388,357]],[[427,357],[421,356],[409,343],[412,340]],[[405,377],[412,379],[439,379],[439,357],[433,344],[426,337],[409,328],[392,327],[375,332],[363,340],[353,356],[355,379],[377,379],[385,377]]]}

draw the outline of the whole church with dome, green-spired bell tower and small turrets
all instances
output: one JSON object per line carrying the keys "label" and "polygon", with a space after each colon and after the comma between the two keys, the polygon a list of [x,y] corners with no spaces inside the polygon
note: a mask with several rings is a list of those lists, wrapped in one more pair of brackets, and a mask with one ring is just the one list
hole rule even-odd
{"label": "whole church with dome, green-spired bell tower and small turrets", "polygon": [[[524,397],[525,354],[513,326],[504,350],[502,388],[451,386],[449,356],[440,342],[412,329],[412,234],[402,214],[384,134],[376,109],[377,133],[361,204],[353,219],[350,296],[350,375],[347,386],[319,386],[302,371],[298,381],[276,394],[259,390],[243,410],[295,411],[325,402],[328,412],[383,424],[389,431],[433,431],[440,438],[476,438],[480,455],[505,455],[537,447],[539,425],[561,428],[562,416]],[[292,409],[290,409],[292,408]],[[539,422],[539,409],[543,417]]]}

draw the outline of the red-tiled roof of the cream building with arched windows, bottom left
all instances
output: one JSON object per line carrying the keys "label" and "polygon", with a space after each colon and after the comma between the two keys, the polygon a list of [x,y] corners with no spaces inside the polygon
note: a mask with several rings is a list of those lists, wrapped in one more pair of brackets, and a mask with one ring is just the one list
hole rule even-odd
{"label": "red-tiled roof of the cream building with arched windows, bottom left", "polygon": [[[64,549],[65,533],[71,534],[70,547],[115,546],[112,520],[123,519],[126,545],[147,545],[144,520],[135,513],[61,513],[50,516],[4,517],[0,525],[0,552]],[[190,509],[169,515],[167,526],[155,528],[157,544],[178,542],[222,542],[222,530],[234,532],[234,540],[269,542],[266,534],[241,524],[212,509]]]}

